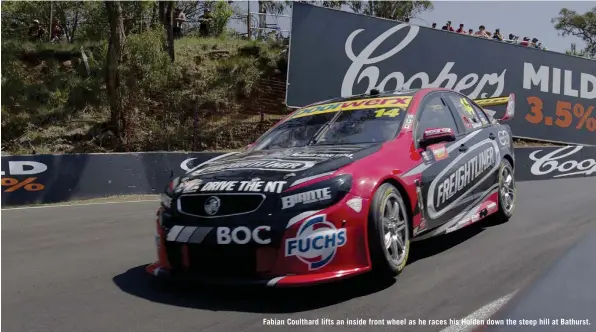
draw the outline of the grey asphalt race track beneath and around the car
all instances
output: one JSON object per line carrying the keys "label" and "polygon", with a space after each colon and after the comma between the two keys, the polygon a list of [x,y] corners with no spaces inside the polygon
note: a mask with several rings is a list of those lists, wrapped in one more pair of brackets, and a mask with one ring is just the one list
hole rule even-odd
{"label": "grey asphalt race track beneath and around the car", "polygon": [[462,318],[528,285],[596,229],[595,192],[596,178],[519,183],[508,223],[416,244],[394,283],[284,291],[156,283],[143,270],[155,259],[156,202],[3,210],[2,330],[282,331],[290,328],[263,319]]}

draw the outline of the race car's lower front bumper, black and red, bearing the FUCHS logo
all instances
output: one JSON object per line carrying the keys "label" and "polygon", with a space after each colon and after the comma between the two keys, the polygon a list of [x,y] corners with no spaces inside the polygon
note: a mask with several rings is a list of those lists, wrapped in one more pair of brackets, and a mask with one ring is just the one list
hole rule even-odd
{"label": "race car's lower front bumper, black and red, bearing the FUCHS logo", "polygon": [[[354,199],[361,204],[357,207],[349,204]],[[348,194],[341,202],[324,210],[300,213],[290,219],[279,247],[261,245],[256,248],[249,244],[228,248],[224,245],[203,247],[206,244],[171,242],[172,236],[165,234],[168,230],[162,228],[158,212],[158,261],[147,266],[146,270],[157,277],[189,279],[206,284],[271,287],[312,285],[365,273],[371,268],[366,227],[368,205],[368,200]],[[330,236],[329,232],[342,233],[341,239],[345,237],[345,241],[340,241],[339,237],[326,238]],[[168,237],[170,241],[166,242]],[[300,241],[308,238],[310,242],[297,244],[298,238]],[[326,247],[327,244],[333,248]],[[256,255],[252,255],[252,249],[249,253],[249,248],[255,248]]]}

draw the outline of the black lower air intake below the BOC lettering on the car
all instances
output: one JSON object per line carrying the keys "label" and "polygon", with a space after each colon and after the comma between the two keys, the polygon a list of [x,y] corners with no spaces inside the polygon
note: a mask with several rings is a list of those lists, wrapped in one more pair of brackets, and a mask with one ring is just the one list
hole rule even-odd
{"label": "black lower air intake below the BOC lettering on the car", "polygon": [[168,260],[174,269],[213,277],[254,277],[256,248],[241,245],[202,246],[188,244],[188,266],[183,265],[184,244],[166,243]]}

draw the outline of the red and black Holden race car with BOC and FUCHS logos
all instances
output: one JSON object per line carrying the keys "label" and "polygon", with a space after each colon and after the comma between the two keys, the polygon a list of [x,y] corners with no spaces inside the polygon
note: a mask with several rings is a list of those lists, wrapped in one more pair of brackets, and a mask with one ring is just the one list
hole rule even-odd
{"label": "red and black Holden race car with BOC and FUCHS logos", "polygon": [[[498,121],[483,107],[506,105]],[[393,278],[412,241],[515,207],[515,96],[442,88],[300,108],[240,152],[175,178],[147,272],[203,283],[310,285]]]}

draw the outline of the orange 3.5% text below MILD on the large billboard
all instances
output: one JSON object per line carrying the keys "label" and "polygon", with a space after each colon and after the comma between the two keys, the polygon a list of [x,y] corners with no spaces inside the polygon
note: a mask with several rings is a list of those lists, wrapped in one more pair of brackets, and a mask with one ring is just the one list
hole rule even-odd
{"label": "orange 3.5% text below MILD on the large billboard", "polygon": [[538,97],[528,97],[530,111],[526,115],[528,122],[538,124],[544,123],[547,126],[553,124],[557,127],[568,128],[575,123],[576,130],[596,131],[596,117],[592,116],[594,106],[584,106],[580,103],[571,103],[568,101],[557,101],[555,108],[556,119],[550,116],[544,116],[543,102]]}

